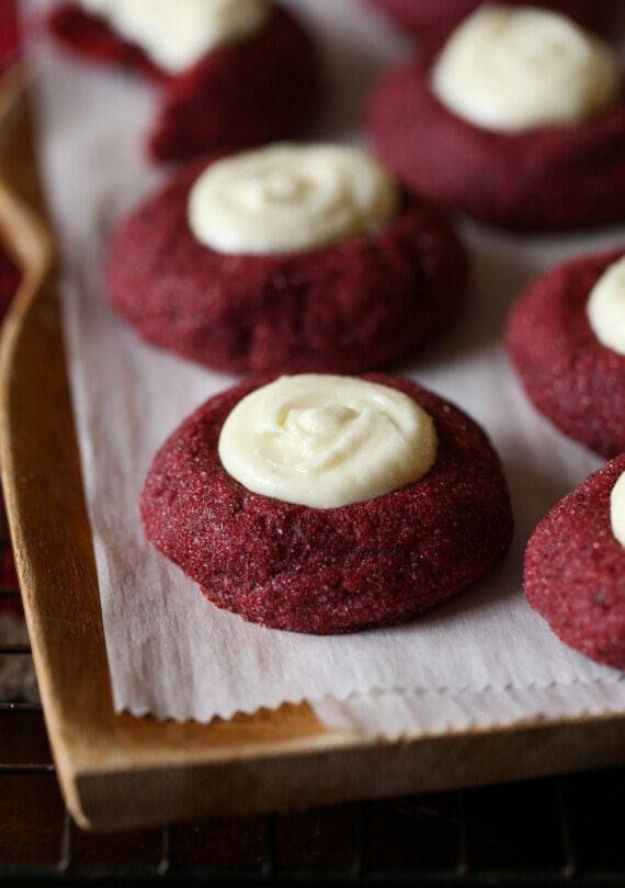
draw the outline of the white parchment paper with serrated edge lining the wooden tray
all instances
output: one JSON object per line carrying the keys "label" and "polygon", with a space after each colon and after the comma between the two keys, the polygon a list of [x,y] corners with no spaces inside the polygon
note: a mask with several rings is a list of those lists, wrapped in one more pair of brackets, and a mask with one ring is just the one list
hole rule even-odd
{"label": "white parchment paper with serrated edge lining the wooden tray", "polygon": [[[29,12],[47,5],[30,0]],[[325,46],[332,99],[318,137],[352,140],[364,90],[407,44],[357,0],[289,5]],[[505,562],[409,626],[337,638],[263,629],[207,603],[145,541],[139,521],[156,449],[198,403],[235,381],[143,345],[106,302],[107,236],[167,175],[141,150],[155,97],[126,75],[64,55],[44,34],[33,40],[32,57],[116,709],[206,721],[307,699],[327,723],[368,735],[625,710],[623,674],[567,649],[523,597],[531,529],[601,461],[533,411],[500,345],[520,288],[566,257],[622,243],[625,228],[521,239],[464,223],[475,265],[470,306],[443,342],[397,368],[490,434],[516,520]]]}

